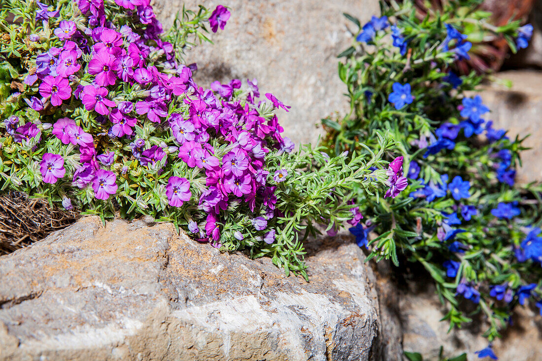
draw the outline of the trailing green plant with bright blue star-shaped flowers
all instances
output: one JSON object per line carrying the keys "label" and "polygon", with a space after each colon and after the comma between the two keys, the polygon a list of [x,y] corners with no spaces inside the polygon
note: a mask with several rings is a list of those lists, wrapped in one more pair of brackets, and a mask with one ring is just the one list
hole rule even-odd
{"label": "trailing green plant with bright blue star-shaped flowers", "polygon": [[[522,139],[496,129],[483,93],[485,74],[459,76],[473,34],[526,47],[531,25],[495,27],[479,1],[444,2],[419,19],[414,4],[381,3],[366,24],[346,15],[355,37],[339,57],[350,112],[324,119],[323,144],[333,154],[363,151],[359,142],[389,132],[402,154],[408,186],[375,202],[360,192],[363,222],[351,228],[369,259],[415,262],[433,277],[450,328],[481,313],[491,341],[511,322],[515,306],[542,313],[542,237],[537,184],[515,185]],[[370,237],[371,231],[377,236]]]}

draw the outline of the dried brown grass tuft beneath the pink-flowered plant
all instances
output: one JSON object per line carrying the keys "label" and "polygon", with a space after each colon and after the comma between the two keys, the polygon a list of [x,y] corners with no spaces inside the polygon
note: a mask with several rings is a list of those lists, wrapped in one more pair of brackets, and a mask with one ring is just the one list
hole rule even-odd
{"label": "dried brown grass tuft beneath the pink-flowered plant", "polygon": [[21,192],[0,195],[0,255],[14,252],[75,222],[78,213],[51,208]]}

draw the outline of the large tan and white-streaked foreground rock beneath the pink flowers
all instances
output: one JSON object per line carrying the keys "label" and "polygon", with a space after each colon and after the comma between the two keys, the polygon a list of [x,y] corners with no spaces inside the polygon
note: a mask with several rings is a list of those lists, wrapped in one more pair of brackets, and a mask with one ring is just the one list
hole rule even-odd
{"label": "large tan and white-streaked foreground rock beneath the pink flowers", "polygon": [[307,283],[171,224],[83,218],[0,257],[0,359],[384,359],[374,275],[333,242]]}

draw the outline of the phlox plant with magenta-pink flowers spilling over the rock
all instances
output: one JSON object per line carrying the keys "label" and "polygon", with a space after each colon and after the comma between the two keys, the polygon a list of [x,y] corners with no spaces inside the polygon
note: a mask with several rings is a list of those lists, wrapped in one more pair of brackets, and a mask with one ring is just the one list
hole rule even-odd
{"label": "phlox plant with magenta-pink flowers spilling over the rock", "polygon": [[255,79],[199,87],[183,54],[229,17],[183,9],[164,34],[149,0],[2,0],[0,188],[102,220],[170,221],[307,278],[304,238],[359,222],[353,186],[389,187],[393,141],[369,156],[294,152],[275,115],[289,106],[259,100]]}

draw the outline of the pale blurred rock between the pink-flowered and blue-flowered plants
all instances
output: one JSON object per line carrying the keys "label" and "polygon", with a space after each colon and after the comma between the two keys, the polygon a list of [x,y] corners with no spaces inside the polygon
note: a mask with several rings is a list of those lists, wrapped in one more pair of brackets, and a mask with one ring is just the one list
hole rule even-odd
{"label": "pale blurred rock between the pink-flowered and blue-flowered plants", "polygon": [[198,64],[199,84],[256,78],[263,99],[271,92],[292,106],[288,113],[279,112],[279,120],[296,144],[318,139],[321,130],[315,125],[321,118],[346,113],[336,56],[353,37],[343,12],[367,21],[379,14],[377,0],[156,0],[154,9],[169,28],[183,4],[197,9],[199,3],[209,9],[222,4],[231,11],[225,29],[212,35],[214,44],[198,46],[186,57]]}

